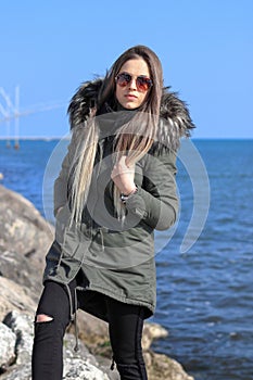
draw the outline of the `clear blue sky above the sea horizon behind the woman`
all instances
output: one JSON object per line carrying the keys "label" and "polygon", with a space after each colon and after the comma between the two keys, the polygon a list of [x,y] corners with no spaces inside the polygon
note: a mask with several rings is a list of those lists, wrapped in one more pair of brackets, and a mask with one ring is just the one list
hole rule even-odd
{"label": "clear blue sky above the sea horizon behind the woman", "polygon": [[252,0],[1,1],[0,88],[14,102],[18,85],[21,112],[38,111],[20,118],[21,136],[64,136],[79,84],[141,43],[187,101],[194,138],[253,138],[252,20]]}

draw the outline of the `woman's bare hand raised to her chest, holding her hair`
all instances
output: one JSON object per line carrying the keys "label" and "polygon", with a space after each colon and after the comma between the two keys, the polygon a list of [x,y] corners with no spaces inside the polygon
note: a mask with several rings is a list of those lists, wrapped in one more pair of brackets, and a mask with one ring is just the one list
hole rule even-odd
{"label": "woman's bare hand raised to her chest, holding her hair", "polygon": [[135,185],[135,164],[127,164],[127,156],[123,155],[114,165],[111,178],[119,191],[128,195],[136,189]]}

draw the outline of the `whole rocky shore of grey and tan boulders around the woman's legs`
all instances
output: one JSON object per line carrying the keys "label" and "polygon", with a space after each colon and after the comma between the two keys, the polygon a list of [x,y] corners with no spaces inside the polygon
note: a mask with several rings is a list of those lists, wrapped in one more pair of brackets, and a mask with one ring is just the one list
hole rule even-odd
{"label": "whole rocky shore of grey and tan boulders around the woman's legs", "polygon": [[[42,286],[45,255],[53,240],[50,226],[22,195],[0,186],[0,380],[30,380],[34,315]],[[78,312],[79,351],[69,327],[64,339],[68,380],[119,380],[111,370],[106,324]],[[154,339],[168,332],[146,322],[142,339],[149,380],[193,380],[174,359],[154,353]]]}

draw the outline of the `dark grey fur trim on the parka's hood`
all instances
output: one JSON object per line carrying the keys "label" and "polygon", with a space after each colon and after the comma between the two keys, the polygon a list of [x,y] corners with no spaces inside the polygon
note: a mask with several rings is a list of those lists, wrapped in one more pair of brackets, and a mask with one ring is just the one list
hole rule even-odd
{"label": "dark grey fur trim on the parka's hood", "polygon": [[[71,128],[83,124],[90,110],[97,105],[102,84],[103,79],[96,79],[86,81],[78,88],[67,110]],[[190,131],[194,128],[194,124],[190,117],[187,104],[178,98],[177,93],[170,92],[168,87],[163,90],[160,116],[157,141],[169,149],[177,150],[180,144],[180,138],[190,137]]]}

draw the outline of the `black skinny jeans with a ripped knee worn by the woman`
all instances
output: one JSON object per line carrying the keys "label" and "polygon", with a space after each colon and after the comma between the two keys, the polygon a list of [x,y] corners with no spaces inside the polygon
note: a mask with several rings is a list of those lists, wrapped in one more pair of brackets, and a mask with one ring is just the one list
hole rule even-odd
{"label": "black skinny jeans with a ripped knee worn by the woman", "polygon": [[[69,289],[74,302],[75,280]],[[74,303],[73,303],[74,304]],[[113,356],[122,380],[147,380],[141,335],[143,307],[128,305],[106,296],[109,333]],[[33,380],[61,380],[63,376],[63,337],[69,324],[69,296],[66,288],[47,281],[36,315],[52,317],[35,322],[31,372]]]}

